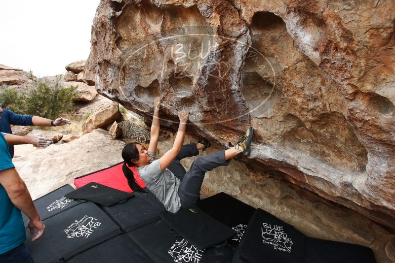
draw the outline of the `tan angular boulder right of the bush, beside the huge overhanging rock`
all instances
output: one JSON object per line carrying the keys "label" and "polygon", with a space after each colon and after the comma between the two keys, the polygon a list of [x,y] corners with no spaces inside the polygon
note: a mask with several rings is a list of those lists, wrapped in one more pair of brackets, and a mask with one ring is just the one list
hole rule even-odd
{"label": "tan angular boulder right of the bush, beside the huge overhanging rock", "polygon": [[118,103],[112,102],[99,108],[88,117],[82,125],[82,133],[92,132],[97,128],[105,127],[121,118],[122,114],[119,112]]}

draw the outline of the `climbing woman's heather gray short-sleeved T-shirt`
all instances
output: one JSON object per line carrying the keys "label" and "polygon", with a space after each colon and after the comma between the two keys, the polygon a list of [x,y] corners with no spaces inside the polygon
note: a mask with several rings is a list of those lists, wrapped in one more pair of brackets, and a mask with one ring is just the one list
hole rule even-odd
{"label": "climbing woman's heather gray short-sleeved T-shirt", "polygon": [[152,157],[150,164],[139,167],[139,175],[143,178],[147,188],[164,204],[167,211],[177,213],[181,207],[178,188],[180,180],[169,169],[160,169],[159,160],[155,154],[148,152]]}

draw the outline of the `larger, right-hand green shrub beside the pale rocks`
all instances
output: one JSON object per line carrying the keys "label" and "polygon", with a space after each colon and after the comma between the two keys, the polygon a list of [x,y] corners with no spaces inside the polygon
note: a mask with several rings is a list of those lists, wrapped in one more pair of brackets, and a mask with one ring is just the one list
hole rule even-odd
{"label": "larger, right-hand green shrub beside the pale rocks", "polygon": [[24,113],[55,119],[71,111],[76,89],[76,86],[63,88],[59,78],[53,83],[45,78],[38,79],[26,96]]}

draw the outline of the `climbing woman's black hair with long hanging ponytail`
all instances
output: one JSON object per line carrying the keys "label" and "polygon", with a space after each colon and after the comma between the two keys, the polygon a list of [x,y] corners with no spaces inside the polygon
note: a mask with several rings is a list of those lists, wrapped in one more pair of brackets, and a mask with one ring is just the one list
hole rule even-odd
{"label": "climbing woman's black hair with long hanging ponytail", "polygon": [[[127,184],[129,185],[130,189],[134,192],[145,192],[144,188],[139,186],[134,178],[133,172],[129,169],[129,167],[136,166],[132,162],[132,160],[139,160],[139,152],[136,148],[136,144],[140,144],[138,142],[128,143],[123,147],[122,150],[122,158],[123,158],[123,165],[122,171],[127,179]],[[141,145],[141,144],[140,144]],[[126,165],[127,164],[127,165]],[[127,167],[129,166],[129,167]]]}

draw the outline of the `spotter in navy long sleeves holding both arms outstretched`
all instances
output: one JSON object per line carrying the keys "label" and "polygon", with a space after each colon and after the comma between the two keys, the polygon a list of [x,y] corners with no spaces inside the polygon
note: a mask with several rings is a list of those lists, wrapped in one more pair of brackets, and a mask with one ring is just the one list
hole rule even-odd
{"label": "spotter in navy long sleeves holding both arms outstretched", "polygon": [[[1,104],[0,104],[1,105]],[[20,126],[63,126],[65,124],[71,124],[68,119],[63,117],[57,118],[56,120],[50,120],[41,118],[39,116],[22,115],[17,114],[11,110],[5,108],[2,109],[2,121],[0,122],[0,132],[12,134],[10,124]],[[11,159],[14,157],[14,145],[15,144],[33,144],[38,147],[45,147],[52,143],[51,139],[39,136],[9,136],[7,138],[9,153]]]}

